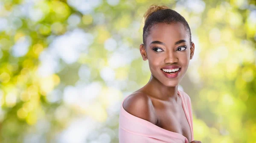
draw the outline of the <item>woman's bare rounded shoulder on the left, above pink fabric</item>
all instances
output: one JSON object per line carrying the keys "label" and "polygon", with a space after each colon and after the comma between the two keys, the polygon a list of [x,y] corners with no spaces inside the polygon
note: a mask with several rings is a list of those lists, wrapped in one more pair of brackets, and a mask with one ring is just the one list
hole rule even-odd
{"label": "woman's bare rounded shoulder on the left, above pink fabric", "polygon": [[123,107],[131,115],[154,124],[157,122],[152,101],[145,93],[136,92],[129,95],[125,99]]}

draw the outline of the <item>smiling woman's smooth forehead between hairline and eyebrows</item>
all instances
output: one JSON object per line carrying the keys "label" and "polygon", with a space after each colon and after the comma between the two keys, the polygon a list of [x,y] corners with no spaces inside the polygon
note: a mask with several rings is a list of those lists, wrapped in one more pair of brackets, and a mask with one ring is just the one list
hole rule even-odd
{"label": "smiling woman's smooth forehead between hairline and eyebrows", "polygon": [[181,39],[189,41],[189,35],[182,23],[158,23],[151,28],[150,34],[147,37],[147,43],[161,41],[171,44]]}

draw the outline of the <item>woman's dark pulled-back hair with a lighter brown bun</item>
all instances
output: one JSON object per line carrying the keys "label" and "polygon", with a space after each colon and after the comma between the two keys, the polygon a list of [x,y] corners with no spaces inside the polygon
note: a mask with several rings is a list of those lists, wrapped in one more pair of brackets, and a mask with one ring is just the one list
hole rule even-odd
{"label": "woman's dark pulled-back hair with a lighter brown bun", "polygon": [[148,34],[150,34],[152,26],[157,23],[182,23],[187,33],[189,34],[189,43],[191,43],[191,31],[189,28],[188,22],[185,20],[183,16],[181,16],[176,11],[168,8],[167,6],[157,6],[155,4],[151,5],[146,13],[144,14],[145,25],[143,27],[143,43],[145,45],[146,38]]}

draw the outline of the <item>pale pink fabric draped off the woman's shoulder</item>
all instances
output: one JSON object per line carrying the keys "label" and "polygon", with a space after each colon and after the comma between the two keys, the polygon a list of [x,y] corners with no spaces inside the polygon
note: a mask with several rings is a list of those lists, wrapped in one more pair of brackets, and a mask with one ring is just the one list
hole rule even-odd
{"label": "pale pink fabric draped off the woman's shoulder", "polygon": [[[178,90],[182,107],[193,135],[192,107],[189,95]],[[127,97],[125,97],[127,98]],[[125,99],[122,101],[122,105]],[[189,143],[183,135],[160,128],[153,123],[126,112],[121,106],[119,115],[119,143]]]}

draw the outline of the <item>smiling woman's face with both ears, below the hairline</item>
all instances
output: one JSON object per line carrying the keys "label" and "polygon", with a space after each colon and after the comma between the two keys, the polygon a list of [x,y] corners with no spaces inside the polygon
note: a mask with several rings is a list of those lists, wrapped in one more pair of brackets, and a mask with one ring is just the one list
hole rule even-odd
{"label": "smiling woman's face with both ears, below the hairline", "polygon": [[[146,47],[140,45],[143,60],[148,59],[151,74],[168,87],[177,86],[194,54],[194,43],[183,24],[159,23],[151,28]],[[146,48],[146,50],[145,50]]]}

